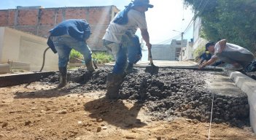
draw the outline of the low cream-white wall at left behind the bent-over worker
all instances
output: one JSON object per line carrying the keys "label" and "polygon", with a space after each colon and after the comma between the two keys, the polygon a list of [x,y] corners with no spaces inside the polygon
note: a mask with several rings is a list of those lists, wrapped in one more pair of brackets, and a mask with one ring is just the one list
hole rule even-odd
{"label": "low cream-white wall at left behind the bent-over worker", "polygon": [[[47,39],[13,28],[0,27],[0,41],[0,63],[29,63],[30,71],[41,69],[44,50],[48,47]],[[43,71],[55,70],[58,70],[58,55],[49,49]]]}

